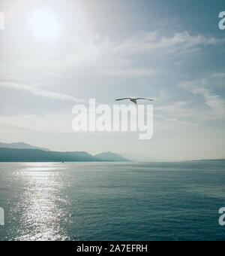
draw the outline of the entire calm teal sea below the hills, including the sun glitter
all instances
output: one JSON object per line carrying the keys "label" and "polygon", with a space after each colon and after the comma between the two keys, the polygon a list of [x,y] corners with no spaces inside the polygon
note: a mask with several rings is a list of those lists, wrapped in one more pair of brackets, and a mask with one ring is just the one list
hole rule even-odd
{"label": "entire calm teal sea below the hills, including the sun glitter", "polygon": [[224,240],[225,163],[0,163],[0,240]]}

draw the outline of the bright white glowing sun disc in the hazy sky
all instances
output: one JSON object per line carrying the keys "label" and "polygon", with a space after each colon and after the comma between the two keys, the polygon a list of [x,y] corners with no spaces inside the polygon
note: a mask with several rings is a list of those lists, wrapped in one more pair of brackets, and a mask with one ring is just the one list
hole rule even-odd
{"label": "bright white glowing sun disc in the hazy sky", "polygon": [[51,40],[59,35],[59,21],[51,11],[37,10],[31,14],[32,34],[41,40]]}

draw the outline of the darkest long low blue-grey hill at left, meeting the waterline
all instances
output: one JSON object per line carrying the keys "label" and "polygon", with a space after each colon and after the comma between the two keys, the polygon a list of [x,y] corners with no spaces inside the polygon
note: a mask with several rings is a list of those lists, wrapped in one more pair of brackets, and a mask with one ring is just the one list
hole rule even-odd
{"label": "darkest long low blue-grey hill at left, meeting the waterline", "polygon": [[39,149],[0,148],[0,162],[100,162],[86,152],[54,152]]}

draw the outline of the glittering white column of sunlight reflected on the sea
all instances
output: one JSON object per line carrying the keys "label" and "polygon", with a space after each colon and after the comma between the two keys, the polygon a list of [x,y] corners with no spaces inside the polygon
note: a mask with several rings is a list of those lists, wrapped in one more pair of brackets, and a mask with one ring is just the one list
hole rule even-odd
{"label": "glittering white column of sunlight reflected on the sea", "polygon": [[[64,187],[58,163],[27,163],[17,172],[26,184],[23,192],[23,230],[16,240],[65,240],[63,222],[68,221],[65,211],[67,199],[61,193]],[[21,203],[20,203],[21,204]],[[60,207],[58,207],[60,206]],[[23,234],[21,236],[21,233]]]}

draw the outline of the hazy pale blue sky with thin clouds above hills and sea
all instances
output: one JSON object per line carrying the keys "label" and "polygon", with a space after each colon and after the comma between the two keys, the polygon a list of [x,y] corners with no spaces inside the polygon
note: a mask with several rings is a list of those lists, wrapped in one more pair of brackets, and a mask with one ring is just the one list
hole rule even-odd
{"label": "hazy pale blue sky with thin clouds above hills and sea", "polygon": [[[225,158],[223,0],[0,0],[0,11],[0,142]],[[75,104],[124,96],[154,99],[151,140],[73,131]]]}

